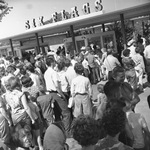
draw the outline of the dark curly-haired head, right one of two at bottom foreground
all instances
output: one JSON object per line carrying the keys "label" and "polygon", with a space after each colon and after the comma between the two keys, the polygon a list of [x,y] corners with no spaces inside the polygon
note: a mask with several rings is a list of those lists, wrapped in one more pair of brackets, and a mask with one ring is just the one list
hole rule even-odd
{"label": "dark curly-haired head, right one of two at bottom foreground", "polygon": [[115,137],[125,128],[126,115],[120,108],[111,108],[102,117],[103,128],[107,135]]}

